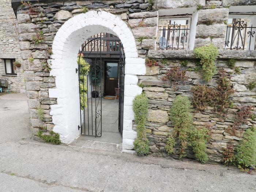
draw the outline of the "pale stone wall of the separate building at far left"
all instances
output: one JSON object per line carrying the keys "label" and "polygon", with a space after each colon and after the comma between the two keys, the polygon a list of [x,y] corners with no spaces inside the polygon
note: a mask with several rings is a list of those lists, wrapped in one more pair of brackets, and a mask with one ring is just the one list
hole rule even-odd
{"label": "pale stone wall of the separate building at far left", "polygon": [[16,59],[20,61],[20,49],[16,18],[11,7],[11,0],[1,2],[0,7],[0,78],[8,79],[8,87],[4,91],[25,93],[25,84],[22,67],[16,68],[17,75],[6,75],[4,59]]}

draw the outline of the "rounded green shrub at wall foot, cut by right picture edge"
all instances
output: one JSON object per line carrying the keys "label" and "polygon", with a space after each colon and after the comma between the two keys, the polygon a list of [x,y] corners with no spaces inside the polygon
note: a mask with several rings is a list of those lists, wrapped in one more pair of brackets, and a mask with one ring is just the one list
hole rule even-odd
{"label": "rounded green shrub at wall foot, cut by right picture edge", "polygon": [[251,172],[256,166],[256,128],[246,129],[237,146],[236,162],[241,170]]}

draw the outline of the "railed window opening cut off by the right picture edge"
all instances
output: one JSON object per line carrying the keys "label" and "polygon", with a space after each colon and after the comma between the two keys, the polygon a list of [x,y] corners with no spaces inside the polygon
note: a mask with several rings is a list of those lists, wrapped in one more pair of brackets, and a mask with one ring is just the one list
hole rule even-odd
{"label": "railed window opening cut off by the right picture edge", "polygon": [[225,49],[255,50],[256,27],[250,25],[248,18],[227,20]]}

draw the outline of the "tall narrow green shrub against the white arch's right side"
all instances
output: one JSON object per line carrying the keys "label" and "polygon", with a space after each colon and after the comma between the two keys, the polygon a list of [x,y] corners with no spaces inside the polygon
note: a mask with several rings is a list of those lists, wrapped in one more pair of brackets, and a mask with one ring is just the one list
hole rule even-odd
{"label": "tall narrow green shrub against the white arch's right side", "polygon": [[148,153],[149,142],[146,136],[145,123],[148,113],[148,98],[145,94],[137,95],[133,100],[133,112],[135,114],[135,123],[137,130],[137,138],[133,142],[134,149],[138,155]]}

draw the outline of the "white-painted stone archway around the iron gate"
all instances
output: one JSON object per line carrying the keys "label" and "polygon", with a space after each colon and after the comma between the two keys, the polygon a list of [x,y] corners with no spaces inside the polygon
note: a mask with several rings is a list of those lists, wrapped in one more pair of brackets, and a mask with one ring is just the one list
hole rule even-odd
{"label": "white-painted stone archway around the iron gate", "polygon": [[63,143],[70,143],[80,134],[78,125],[79,87],[75,69],[77,53],[81,44],[91,35],[107,32],[117,35],[125,52],[125,89],[124,89],[124,128],[123,150],[133,148],[136,132],[132,130],[133,98],[142,92],[137,86],[137,75],[146,73],[145,60],[138,57],[135,39],[129,27],[118,16],[105,11],[89,11],[67,20],[57,31],[54,38],[52,70],[56,88],[49,89],[49,97],[57,98],[57,105],[51,106],[53,131],[60,134]]}

